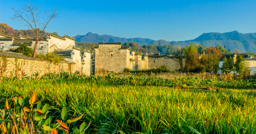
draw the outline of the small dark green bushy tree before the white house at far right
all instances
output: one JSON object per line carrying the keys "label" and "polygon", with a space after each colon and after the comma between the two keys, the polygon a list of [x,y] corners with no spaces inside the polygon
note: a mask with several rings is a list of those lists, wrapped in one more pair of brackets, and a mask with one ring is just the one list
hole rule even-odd
{"label": "small dark green bushy tree before the white house at far right", "polygon": [[234,59],[231,56],[228,59],[226,57],[223,59],[221,71],[224,73],[232,73],[234,71]]}

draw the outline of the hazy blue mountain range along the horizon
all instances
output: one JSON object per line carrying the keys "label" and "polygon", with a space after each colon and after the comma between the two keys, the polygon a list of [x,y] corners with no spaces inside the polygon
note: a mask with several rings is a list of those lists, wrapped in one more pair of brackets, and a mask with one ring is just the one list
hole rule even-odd
{"label": "hazy blue mountain range along the horizon", "polygon": [[99,35],[93,34],[89,32],[86,35],[77,35],[74,37],[78,42],[137,42],[141,45],[143,44],[170,44],[170,45],[179,45],[180,47],[185,47],[190,43],[200,44],[200,45],[211,45],[216,46],[219,45],[226,45],[226,48],[229,48],[233,51],[235,48],[241,51],[249,51],[249,52],[256,52],[256,33],[248,33],[242,34],[238,31],[232,31],[227,33],[203,33],[196,39],[187,40],[187,41],[165,41],[165,40],[152,40],[152,39],[144,39],[144,38],[120,38],[114,37],[111,35]]}

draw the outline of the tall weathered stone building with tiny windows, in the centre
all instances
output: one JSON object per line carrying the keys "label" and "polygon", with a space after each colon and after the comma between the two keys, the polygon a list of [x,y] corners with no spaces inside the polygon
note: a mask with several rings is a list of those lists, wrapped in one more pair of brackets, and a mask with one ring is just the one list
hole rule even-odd
{"label": "tall weathered stone building with tiny windows, in the centre", "polygon": [[120,42],[102,43],[95,48],[95,72],[100,69],[123,72],[124,68],[132,70],[148,69],[147,55],[135,54],[129,46],[121,46]]}

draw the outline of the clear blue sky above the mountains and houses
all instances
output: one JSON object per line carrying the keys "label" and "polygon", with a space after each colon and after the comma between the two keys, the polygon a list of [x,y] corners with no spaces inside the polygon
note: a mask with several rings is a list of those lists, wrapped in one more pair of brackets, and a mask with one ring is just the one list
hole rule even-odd
{"label": "clear blue sky above the mountains and houses", "polygon": [[[255,0],[94,0],[32,1],[44,11],[58,8],[59,15],[46,28],[58,35],[85,35],[88,32],[124,38],[184,41],[202,33],[256,33]],[[14,29],[28,29],[24,21],[12,20],[12,7],[21,9],[21,0],[0,0],[0,23]]]}

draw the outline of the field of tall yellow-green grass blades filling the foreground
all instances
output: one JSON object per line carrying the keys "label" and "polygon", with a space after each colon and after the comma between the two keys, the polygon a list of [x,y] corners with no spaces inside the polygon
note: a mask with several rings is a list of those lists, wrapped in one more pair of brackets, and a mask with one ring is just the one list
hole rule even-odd
{"label": "field of tall yellow-green grass blades filling the foreground", "polygon": [[1,109],[6,98],[11,103],[14,96],[29,100],[37,93],[38,100],[49,103],[54,119],[61,118],[63,106],[69,118],[85,112],[76,123],[91,121],[87,133],[256,133],[256,98],[241,92],[82,79],[23,80],[0,86]]}

